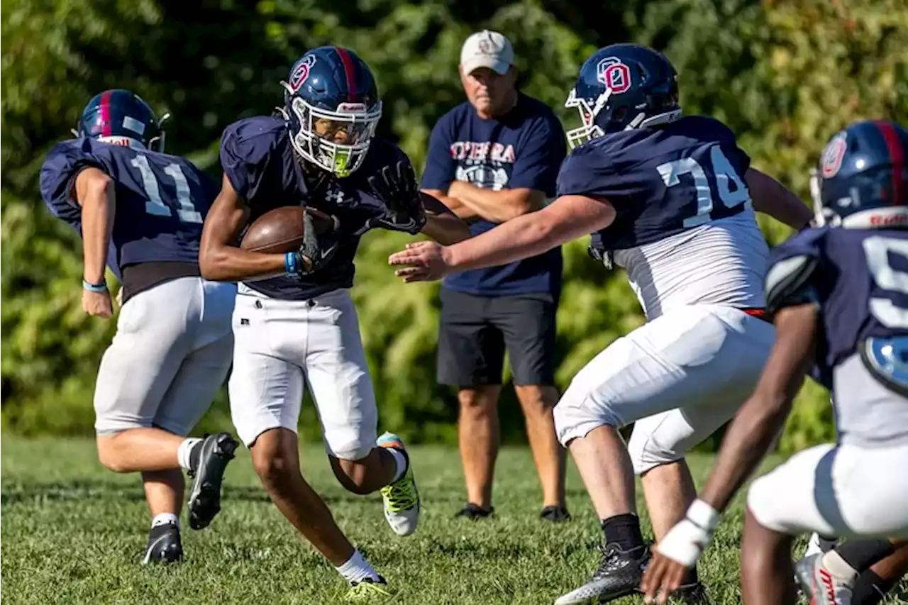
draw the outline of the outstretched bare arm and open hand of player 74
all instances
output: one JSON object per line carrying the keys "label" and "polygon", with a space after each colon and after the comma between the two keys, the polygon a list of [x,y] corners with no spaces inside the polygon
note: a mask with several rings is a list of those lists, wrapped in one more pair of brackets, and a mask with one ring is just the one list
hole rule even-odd
{"label": "outstretched bare arm and open hand of player 74", "polygon": [[562,195],[536,213],[518,216],[452,246],[417,242],[393,253],[391,265],[404,282],[439,280],[448,273],[493,267],[536,256],[576,240],[615,220],[615,208],[604,199]]}

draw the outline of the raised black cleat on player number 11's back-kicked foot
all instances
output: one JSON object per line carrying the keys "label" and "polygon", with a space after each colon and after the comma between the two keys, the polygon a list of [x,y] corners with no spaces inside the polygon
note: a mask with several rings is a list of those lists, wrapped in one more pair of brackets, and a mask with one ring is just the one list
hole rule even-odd
{"label": "raised black cleat on player number 11's back-kicked foot", "polygon": [[189,526],[193,530],[208,527],[221,511],[221,483],[227,462],[233,459],[233,451],[239,447],[228,432],[205,435],[195,447],[200,448],[199,461],[189,476],[192,489],[189,492]]}

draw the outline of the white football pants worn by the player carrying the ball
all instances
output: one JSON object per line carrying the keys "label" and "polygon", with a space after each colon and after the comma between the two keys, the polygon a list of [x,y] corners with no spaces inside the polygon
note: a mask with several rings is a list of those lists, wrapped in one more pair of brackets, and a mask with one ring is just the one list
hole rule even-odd
{"label": "white football pants worn by the player carrying the ball", "polygon": [[360,460],[375,447],[375,394],[347,289],[287,301],[241,286],[233,333],[231,413],[247,446],[270,429],[297,431],[308,384],[331,456]]}

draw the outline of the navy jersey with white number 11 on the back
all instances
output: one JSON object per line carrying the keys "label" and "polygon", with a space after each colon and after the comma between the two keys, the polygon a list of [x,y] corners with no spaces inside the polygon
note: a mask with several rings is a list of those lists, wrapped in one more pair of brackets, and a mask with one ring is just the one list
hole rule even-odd
{"label": "navy jersey with white number 11 on the back", "polygon": [[41,194],[55,216],[82,233],[75,177],[87,167],[108,174],[116,210],[108,266],[198,263],[202,222],[217,195],[212,179],[188,160],[90,138],[56,144],[41,167]]}

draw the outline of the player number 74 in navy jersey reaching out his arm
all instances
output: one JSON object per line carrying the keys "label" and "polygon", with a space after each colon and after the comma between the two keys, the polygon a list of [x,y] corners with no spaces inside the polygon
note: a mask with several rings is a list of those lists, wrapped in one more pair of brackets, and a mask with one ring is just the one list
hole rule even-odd
{"label": "player number 74 in navy jersey reaching out his arm", "polygon": [[[606,549],[591,580],[558,604],[639,589],[649,549],[635,512],[642,476],[656,539],[696,498],[684,460],[753,392],[773,342],[763,319],[767,246],[755,210],[803,227],[811,213],[749,166],[712,118],[682,117],[675,68],[639,45],[599,49],[568,96],[583,125],[558,199],[449,247],[391,256],[406,282],[510,263],[593,233],[598,258],[627,269],[648,322],[587,363],[555,407],[558,439],[586,484]],[[585,142],[586,141],[586,142]],[[635,422],[627,446],[618,429]],[[686,597],[703,592],[692,570]]]}

